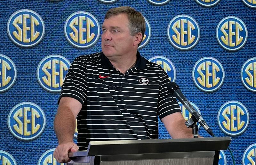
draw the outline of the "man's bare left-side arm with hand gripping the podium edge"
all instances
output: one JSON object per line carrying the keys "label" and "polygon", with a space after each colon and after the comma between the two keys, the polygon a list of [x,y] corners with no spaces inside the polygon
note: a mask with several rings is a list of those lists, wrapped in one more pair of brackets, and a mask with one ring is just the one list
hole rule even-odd
{"label": "man's bare left-side arm with hand gripping the podium edge", "polygon": [[54,130],[59,141],[53,155],[58,162],[68,162],[68,152],[76,152],[78,146],[73,142],[76,129],[76,116],[82,104],[71,97],[62,97],[54,119]]}

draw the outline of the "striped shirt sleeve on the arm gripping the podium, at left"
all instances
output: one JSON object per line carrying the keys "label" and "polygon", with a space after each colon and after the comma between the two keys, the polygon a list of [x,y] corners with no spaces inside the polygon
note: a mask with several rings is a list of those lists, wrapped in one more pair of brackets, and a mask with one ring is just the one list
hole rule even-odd
{"label": "striped shirt sleeve on the arm gripping the podium, at left", "polygon": [[82,62],[77,57],[69,67],[61,87],[60,97],[72,97],[84,105],[86,100],[86,72]]}

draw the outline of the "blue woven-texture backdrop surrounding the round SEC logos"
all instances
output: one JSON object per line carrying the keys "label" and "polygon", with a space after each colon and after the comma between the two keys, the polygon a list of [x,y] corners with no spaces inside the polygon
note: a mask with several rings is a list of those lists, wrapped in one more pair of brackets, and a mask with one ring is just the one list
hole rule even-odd
{"label": "blue woven-texture backdrop surrounding the round SEC logos", "polygon": [[[227,101],[236,100],[245,105],[250,114],[248,128],[239,136],[232,137],[230,148],[235,156],[236,164],[242,164],[245,149],[256,143],[256,103],[255,92],[247,90],[241,82],[240,70],[243,63],[256,57],[256,12],[247,7],[242,0],[220,0],[220,3],[206,8],[195,0],[171,0],[164,5],[154,5],[147,0],[119,0],[104,4],[98,0],[12,0],[0,2],[0,54],[12,59],[17,68],[17,79],[11,89],[0,93],[0,150],[14,157],[17,164],[37,164],[40,156],[47,150],[57,146],[57,138],[53,130],[53,120],[58,108],[59,93],[44,90],[36,78],[36,68],[46,56],[58,54],[72,62],[82,54],[101,51],[101,39],[87,49],[73,47],[65,38],[64,24],[66,19],[76,11],[91,13],[100,25],[108,9],[118,6],[131,6],[147,18],[151,26],[151,38],[141,48],[140,53],[149,59],[164,56],[170,59],[177,71],[176,83],[182,92],[195,103],[206,122],[212,127],[216,136],[228,136],[220,130],[217,114]],[[30,48],[15,45],[8,37],[6,25],[9,17],[18,10],[30,9],[37,12],[44,20],[45,35],[42,41]],[[200,39],[197,45],[187,51],[174,48],[167,37],[167,26],[170,20],[180,14],[193,17],[200,27]],[[216,39],[216,27],[220,20],[227,16],[242,19],[248,29],[248,39],[243,48],[230,52],[223,49]],[[221,62],[225,70],[225,80],[221,88],[212,93],[199,90],[192,79],[192,69],[197,60],[211,56]],[[21,102],[32,102],[39,105],[46,116],[44,132],[36,139],[22,141],[15,138],[7,126],[7,117],[12,108]],[[202,136],[209,137],[200,128]],[[170,138],[162,123],[159,124],[159,138]],[[232,164],[231,156],[225,151],[227,164]]]}

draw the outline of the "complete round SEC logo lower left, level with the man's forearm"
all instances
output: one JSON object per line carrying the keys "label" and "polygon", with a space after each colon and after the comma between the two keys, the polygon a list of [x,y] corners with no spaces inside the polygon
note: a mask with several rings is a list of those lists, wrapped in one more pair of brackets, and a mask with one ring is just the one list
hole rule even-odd
{"label": "complete round SEC logo lower left, level with the man's forearm", "polygon": [[20,140],[37,138],[46,125],[44,111],[36,104],[23,102],[12,108],[8,115],[8,127]]}

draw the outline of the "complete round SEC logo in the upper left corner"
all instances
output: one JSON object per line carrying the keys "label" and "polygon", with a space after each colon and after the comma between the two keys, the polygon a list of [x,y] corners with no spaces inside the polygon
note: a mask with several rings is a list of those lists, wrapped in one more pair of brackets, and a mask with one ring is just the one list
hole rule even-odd
{"label": "complete round SEC logo in the upper left corner", "polygon": [[44,37],[44,21],[32,10],[16,11],[9,18],[7,33],[15,44],[21,47],[33,47]]}

